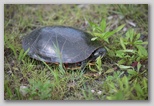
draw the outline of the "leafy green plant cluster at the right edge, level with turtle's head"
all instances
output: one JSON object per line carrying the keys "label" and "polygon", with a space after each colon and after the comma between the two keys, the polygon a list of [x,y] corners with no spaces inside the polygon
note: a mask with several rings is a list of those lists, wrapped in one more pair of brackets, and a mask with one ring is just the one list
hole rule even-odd
{"label": "leafy green plant cluster at the right edge, level with turtle's head", "polygon": [[148,53],[143,45],[147,45],[148,42],[140,40],[140,34],[135,33],[133,29],[130,29],[126,33],[126,37],[120,38],[121,50],[116,51],[116,57],[121,58],[119,64],[130,64],[132,61],[140,61],[147,59]]}

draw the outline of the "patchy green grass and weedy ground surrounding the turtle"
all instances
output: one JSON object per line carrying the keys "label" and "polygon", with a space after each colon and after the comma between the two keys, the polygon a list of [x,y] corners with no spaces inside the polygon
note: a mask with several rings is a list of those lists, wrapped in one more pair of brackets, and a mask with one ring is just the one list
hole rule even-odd
{"label": "patchy green grass and weedy ground surrounding the turtle", "polygon": [[[5,100],[148,100],[148,5],[14,4],[4,5],[4,19]],[[27,56],[22,37],[51,25],[94,35],[103,61],[83,72]]]}

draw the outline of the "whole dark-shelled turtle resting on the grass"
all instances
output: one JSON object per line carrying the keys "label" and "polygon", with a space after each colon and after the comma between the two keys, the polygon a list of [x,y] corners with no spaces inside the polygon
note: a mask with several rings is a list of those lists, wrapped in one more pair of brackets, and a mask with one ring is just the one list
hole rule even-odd
{"label": "whole dark-shelled turtle resting on the grass", "polygon": [[24,36],[22,47],[36,60],[84,68],[88,61],[106,54],[102,43],[92,38],[90,33],[70,26],[44,26]]}

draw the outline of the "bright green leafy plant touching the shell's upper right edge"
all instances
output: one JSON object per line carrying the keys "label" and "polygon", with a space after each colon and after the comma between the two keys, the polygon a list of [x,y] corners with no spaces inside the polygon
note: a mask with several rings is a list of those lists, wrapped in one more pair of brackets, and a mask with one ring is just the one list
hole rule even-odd
{"label": "bright green leafy plant touching the shell's upper right edge", "polygon": [[95,36],[91,40],[94,41],[96,39],[101,39],[103,41],[106,41],[107,43],[109,43],[109,40],[108,40],[109,37],[119,32],[125,26],[125,24],[123,24],[118,28],[116,28],[115,30],[109,31],[109,30],[106,30],[107,25],[106,25],[105,19],[102,19],[102,21],[100,22],[100,25],[95,24],[93,22],[89,22],[89,24],[92,27],[93,35]]}

